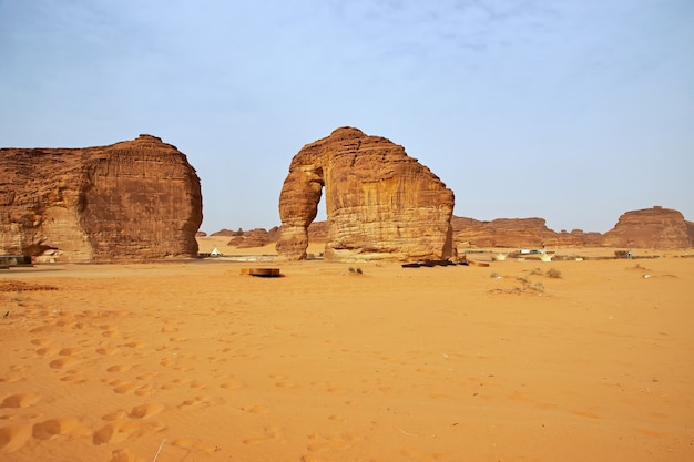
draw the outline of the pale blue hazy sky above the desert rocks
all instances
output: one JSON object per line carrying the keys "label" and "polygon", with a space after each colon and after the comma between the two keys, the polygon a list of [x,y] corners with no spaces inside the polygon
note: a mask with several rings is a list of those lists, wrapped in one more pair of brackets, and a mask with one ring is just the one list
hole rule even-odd
{"label": "pale blue hazy sky above the desert rocks", "polygon": [[0,147],[159,136],[207,233],[278,226],[292,157],[340,126],[457,216],[694,220],[694,1],[0,0]]}

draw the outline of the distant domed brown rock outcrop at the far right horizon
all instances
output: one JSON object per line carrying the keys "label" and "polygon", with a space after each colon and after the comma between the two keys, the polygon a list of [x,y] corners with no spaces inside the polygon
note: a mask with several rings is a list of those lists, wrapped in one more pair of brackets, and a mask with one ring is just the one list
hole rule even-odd
{"label": "distant domed brown rock outcrop at the far right horizon", "polygon": [[605,247],[688,248],[692,244],[682,213],[660,206],[626,212],[602,237]]}

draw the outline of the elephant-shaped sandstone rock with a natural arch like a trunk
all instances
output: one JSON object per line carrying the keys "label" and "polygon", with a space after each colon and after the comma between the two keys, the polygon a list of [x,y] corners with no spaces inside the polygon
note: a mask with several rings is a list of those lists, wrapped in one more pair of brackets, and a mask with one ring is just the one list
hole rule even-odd
{"label": "elephant-shaped sandstone rock with a natural arch like a trunk", "polygon": [[351,127],[304,146],[279,196],[277,253],[305,259],[325,187],[328,260],[455,257],[453,192],[402,146]]}

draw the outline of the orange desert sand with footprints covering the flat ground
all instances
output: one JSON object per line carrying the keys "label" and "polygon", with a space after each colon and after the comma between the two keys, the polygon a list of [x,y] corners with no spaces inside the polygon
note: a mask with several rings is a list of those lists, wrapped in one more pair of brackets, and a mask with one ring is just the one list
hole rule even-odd
{"label": "orange desert sand with footprints covering the flat ground", "polygon": [[680,254],[1,270],[0,461],[692,461]]}

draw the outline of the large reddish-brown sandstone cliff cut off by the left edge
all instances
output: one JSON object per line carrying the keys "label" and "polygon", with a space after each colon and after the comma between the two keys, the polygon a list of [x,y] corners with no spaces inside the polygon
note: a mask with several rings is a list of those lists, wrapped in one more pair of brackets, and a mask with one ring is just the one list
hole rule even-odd
{"label": "large reddish-brown sandstone cliff cut off by the left edge", "polygon": [[200,178],[175,146],[0,150],[0,253],[62,261],[195,256]]}

